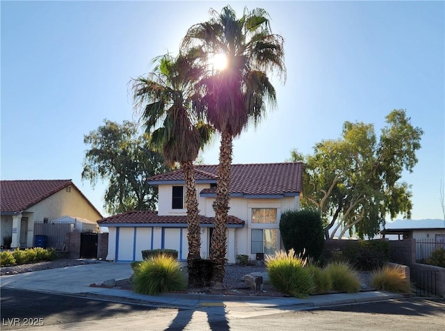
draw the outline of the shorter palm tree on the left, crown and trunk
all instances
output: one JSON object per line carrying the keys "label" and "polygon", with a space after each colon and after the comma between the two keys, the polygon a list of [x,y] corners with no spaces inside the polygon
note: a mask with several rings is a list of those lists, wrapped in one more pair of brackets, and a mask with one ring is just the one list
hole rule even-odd
{"label": "shorter palm tree on the left, crown and trunk", "polygon": [[200,78],[196,58],[179,54],[154,59],[159,64],[147,77],[133,80],[135,107],[145,107],[142,119],[148,132],[152,130],[151,144],[163,155],[165,163],[179,163],[186,182],[186,207],[188,223],[188,282],[199,286],[194,261],[201,259],[199,210],[195,188],[193,161],[211,140],[213,129],[193,113],[191,102],[194,85]]}

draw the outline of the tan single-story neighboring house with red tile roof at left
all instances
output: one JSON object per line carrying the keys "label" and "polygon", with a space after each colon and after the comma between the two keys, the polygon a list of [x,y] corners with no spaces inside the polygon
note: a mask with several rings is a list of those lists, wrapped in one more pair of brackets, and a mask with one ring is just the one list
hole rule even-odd
{"label": "tan single-story neighboring house with red tile roof at left", "polygon": [[34,223],[51,223],[65,215],[102,218],[71,179],[2,180],[0,187],[1,245],[3,236],[11,235],[11,248],[33,247]]}

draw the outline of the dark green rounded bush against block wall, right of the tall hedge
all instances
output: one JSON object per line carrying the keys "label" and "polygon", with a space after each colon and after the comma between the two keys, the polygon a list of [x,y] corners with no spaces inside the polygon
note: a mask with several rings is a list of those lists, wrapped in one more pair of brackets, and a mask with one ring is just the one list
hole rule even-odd
{"label": "dark green rounded bush against block wall, right of the tall hedge", "polygon": [[375,270],[385,266],[391,256],[391,244],[385,240],[351,241],[343,256],[355,269]]}

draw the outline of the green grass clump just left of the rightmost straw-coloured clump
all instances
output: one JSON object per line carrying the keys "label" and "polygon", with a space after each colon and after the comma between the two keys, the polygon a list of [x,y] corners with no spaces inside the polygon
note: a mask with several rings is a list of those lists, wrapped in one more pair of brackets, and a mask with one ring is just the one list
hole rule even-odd
{"label": "green grass clump just left of the rightmost straw-coloured clump", "polygon": [[328,264],[325,271],[332,280],[334,291],[353,293],[360,291],[362,283],[359,275],[350,266],[343,262]]}

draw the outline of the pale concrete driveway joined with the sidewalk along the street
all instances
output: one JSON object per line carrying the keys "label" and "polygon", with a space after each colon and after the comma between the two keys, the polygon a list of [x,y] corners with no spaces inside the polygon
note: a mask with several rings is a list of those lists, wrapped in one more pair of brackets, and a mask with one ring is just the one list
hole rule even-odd
{"label": "pale concrete driveway joined with the sidewalk along the street", "polygon": [[[10,289],[23,289],[41,291],[54,294],[83,296],[117,302],[132,302],[156,307],[175,307],[179,309],[196,309],[201,307],[236,307],[233,313],[246,313],[251,311],[258,315],[263,309],[309,309],[313,307],[326,307],[357,302],[371,302],[403,298],[396,293],[382,291],[358,293],[334,293],[320,296],[309,296],[307,299],[298,298],[272,298],[255,296],[213,296],[202,293],[162,294],[159,296],[145,296],[122,289],[106,289],[90,287],[90,284],[102,284],[105,280],[125,280],[133,271],[129,263],[99,262],[81,266],[69,266],[17,275],[3,275],[0,277],[0,286]],[[243,307],[243,308],[241,308]]]}

